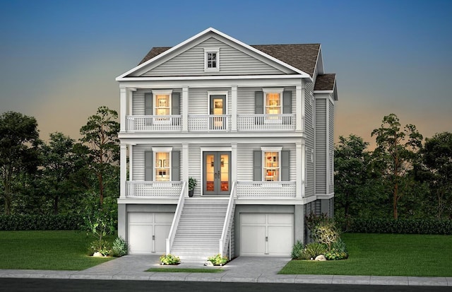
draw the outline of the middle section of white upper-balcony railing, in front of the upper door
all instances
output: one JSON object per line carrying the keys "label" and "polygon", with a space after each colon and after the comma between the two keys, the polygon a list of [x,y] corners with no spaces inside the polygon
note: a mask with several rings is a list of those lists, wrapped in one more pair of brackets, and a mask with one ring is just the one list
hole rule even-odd
{"label": "middle section of white upper-balcony railing, in front of the upper door", "polygon": [[189,131],[229,131],[230,115],[189,115]]}

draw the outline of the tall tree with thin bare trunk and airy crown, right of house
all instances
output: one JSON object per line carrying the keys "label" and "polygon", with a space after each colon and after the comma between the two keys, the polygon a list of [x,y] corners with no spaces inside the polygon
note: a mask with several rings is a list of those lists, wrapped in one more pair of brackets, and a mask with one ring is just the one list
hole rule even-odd
{"label": "tall tree with thin bare trunk and airy crown, right of house", "polygon": [[413,124],[407,124],[401,130],[398,117],[390,114],[383,117],[381,127],[374,129],[371,136],[376,136],[374,153],[381,161],[382,175],[390,183],[393,217],[397,219],[398,201],[403,196],[399,189],[400,182],[419,157],[417,152],[422,148],[422,135]]}

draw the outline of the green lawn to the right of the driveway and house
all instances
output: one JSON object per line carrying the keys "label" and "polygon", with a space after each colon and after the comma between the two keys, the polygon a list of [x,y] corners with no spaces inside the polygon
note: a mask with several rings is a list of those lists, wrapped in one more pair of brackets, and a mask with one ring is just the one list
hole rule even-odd
{"label": "green lawn to the right of the driveway and house", "polygon": [[344,233],[349,258],[292,260],[280,274],[452,276],[452,235]]}

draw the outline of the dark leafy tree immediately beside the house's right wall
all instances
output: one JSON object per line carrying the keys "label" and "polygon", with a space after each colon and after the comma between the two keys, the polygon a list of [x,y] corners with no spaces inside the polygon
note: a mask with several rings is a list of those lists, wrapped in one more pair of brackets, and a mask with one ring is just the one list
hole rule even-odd
{"label": "dark leafy tree immediately beside the house's right wall", "polygon": [[368,184],[370,153],[368,142],[354,134],[347,138],[339,137],[334,153],[334,203],[337,209],[343,209],[345,218],[357,215],[359,197]]}

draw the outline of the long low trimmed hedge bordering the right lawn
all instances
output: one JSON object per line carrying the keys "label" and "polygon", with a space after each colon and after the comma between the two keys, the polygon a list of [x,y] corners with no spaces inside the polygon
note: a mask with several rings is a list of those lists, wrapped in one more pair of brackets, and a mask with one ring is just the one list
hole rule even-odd
{"label": "long low trimmed hedge bordering the right lawn", "polygon": [[[344,224],[342,228],[345,228]],[[452,235],[452,220],[353,218],[348,221],[352,233],[400,233]]]}

